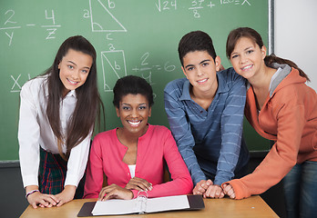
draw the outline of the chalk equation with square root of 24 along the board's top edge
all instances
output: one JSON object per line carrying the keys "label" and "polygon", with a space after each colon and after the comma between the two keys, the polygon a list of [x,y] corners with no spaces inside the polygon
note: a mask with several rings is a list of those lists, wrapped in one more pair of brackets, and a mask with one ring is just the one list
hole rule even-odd
{"label": "chalk equation with square root of 24 along the board's top edge", "polygon": [[[251,6],[252,0],[218,0],[218,1],[210,1],[210,0],[192,0],[189,1],[189,11],[192,12],[195,18],[200,18],[199,12],[205,8],[214,8],[221,5],[248,5]],[[178,10],[179,4],[184,4],[185,1],[178,1],[177,0],[158,0],[155,3],[158,12],[164,11],[171,11],[171,10]],[[180,6],[180,8],[183,8]]]}

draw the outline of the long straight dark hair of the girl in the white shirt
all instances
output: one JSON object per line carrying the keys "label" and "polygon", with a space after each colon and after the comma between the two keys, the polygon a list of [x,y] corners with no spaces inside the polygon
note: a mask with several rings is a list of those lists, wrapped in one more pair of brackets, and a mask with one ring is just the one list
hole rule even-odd
{"label": "long straight dark hair of the girl in the white shirt", "polygon": [[[93,58],[93,64],[87,76],[85,84],[76,89],[77,104],[74,113],[67,122],[66,135],[62,134],[59,119],[59,104],[63,97],[64,84],[59,78],[58,64],[62,61],[69,49],[73,49],[84,54],[88,54]],[[72,36],[60,45],[54,63],[46,70],[48,75],[48,100],[46,114],[49,124],[56,135],[59,153],[62,157],[68,158],[72,148],[80,144],[90,132],[94,131],[95,121],[97,118],[100,127],[100,112],[104,114],[104,105],[101,102],[99,92],[97,90],[97,66],[96,51],[86,38],[81,35]],[[103,115],[104,118],[104,115]],[[61,144],[66,144],[66,155],[61,151]]]}

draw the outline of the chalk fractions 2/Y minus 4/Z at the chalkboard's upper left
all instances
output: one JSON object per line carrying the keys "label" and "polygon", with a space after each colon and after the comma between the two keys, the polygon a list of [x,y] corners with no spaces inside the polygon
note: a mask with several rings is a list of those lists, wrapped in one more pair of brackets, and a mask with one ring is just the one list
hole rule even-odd
{"label": "chalk fractions 2/Y minus 4/Z at the chalkboard's upper left", "polygon": [[56,17],[54,10],[45,10],[43,13],[46,24],[45,25],[36,25],[35,23],[27,23],[25,25],[20,25],[15,20],[15,10],[8,9],[4,13],[5,22],[4,24],[0,24],[0,31],[4,31],[5,35],[8,36],[8,45],[12,45],[14,40],[14,34],[16,29],[22,28],[36,28],[36,26],[40,26],[41,28],[46,29],[46,40],[54,39],[56,35],[57,28],[61,27],[61,25],[56,24]]}

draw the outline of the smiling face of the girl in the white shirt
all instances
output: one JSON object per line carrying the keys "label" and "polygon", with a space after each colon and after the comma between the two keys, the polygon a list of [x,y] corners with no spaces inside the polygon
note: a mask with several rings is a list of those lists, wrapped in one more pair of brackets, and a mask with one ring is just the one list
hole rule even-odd
{"label": "smiling face of the girl in the white shirt", "polygon": [[64,84],[65,96],[70,90],[75,90],[85,84],[89,74],[93,58],[82,52],[69,49],[58,64],[59,78]]}

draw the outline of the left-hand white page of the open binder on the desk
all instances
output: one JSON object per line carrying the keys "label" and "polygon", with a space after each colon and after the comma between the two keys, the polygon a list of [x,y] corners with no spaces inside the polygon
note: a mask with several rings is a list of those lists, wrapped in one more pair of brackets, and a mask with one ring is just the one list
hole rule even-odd
{"label": "left-hand white page of the open binder on the desk", "polygon": [[105,202],[97,201],[91,213],[93,213],[93,215],[115,215],[115,214],[138,213],[138,208],[136,204],[137,204],[137,199],[132,199],[132,200],[111,199]]}

